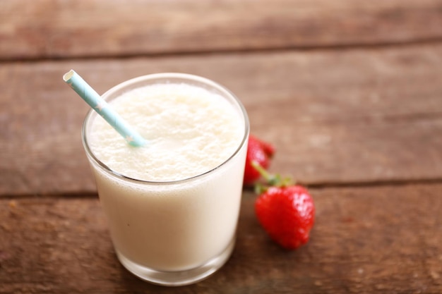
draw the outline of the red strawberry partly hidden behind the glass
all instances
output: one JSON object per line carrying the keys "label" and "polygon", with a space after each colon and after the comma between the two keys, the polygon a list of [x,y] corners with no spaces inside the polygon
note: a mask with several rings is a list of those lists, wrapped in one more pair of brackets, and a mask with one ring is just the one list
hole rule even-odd
{"label": "red strawberry partly hidden behind the glass", "polygon": [[275,147],[268,142],[259,140],[253,135],[249,136],[249,145],[247,147],[246,169],[244,171],[244,185],[252,185],[261,177],[261,174],[253,169],[252,161],[258,162],[260,166],[267,169],[270,165],[270,159],[275,154]]}

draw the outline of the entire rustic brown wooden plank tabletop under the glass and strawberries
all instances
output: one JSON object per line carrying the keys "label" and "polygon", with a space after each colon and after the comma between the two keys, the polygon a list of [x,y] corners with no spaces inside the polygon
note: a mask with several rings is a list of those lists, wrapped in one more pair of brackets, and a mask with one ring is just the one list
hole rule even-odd
{"label": "entire rustic brown wooden plank tabletop under the glass and strawberries", "polygon": [[[80,140],[97,92],[184,72],[237,94],[311,240],[271,242],[244,190],[234,253],[179,288],[117,261]],[[442,293],[442,0],[0,1],[0,293]]]}

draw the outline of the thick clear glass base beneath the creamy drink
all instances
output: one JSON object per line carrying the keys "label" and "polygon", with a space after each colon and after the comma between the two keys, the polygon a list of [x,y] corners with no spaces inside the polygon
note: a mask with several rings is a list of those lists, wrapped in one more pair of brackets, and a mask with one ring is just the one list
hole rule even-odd
{"label": "thick clear glass base beneath the creamy drink", "polygon": [[148,267],[143,267],[131,260],[127,259],[117,251],[117,257],[121,264],[132,274],[141,278],[144,281],[154,283],[161,286],[184,286],[191,283],[196,283],[220,269],[232,255],[235,238],[229,243],[227,248],[213,259],[210,259],[205,264],[195,269],[188,269],[185,271],[157,271]]}

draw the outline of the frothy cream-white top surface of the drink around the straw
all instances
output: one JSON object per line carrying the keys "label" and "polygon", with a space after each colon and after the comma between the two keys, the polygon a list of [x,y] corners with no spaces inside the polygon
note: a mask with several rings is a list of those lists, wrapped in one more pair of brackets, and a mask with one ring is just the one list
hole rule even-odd
{"label": "frothy cream-white top surface of the drink around the straw", "polygon": [[138,180],[183,180],[215,169],[234,154],[244,135],[244,120],[234,106],[201,87],[149,85],[110,105],[148,143],[130,146],[98,116],[90,148],[113,171]]}

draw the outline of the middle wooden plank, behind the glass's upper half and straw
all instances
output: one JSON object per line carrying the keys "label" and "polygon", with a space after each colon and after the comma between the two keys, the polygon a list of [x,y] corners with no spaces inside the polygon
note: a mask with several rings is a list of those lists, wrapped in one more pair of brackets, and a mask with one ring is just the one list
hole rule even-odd
{"label": "middle wooden plank, behind the glass's upper half and straw", "polygon": [[8,63],[0,67],[0,195],[95,192],[80,140],[88,106],[61,76],[100,93],[138,75],[187,72],[244,102],[273,142],[272,171],[302,183],[442,177],[442,45]]}

